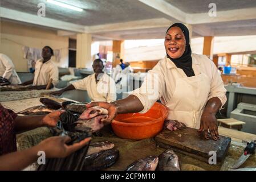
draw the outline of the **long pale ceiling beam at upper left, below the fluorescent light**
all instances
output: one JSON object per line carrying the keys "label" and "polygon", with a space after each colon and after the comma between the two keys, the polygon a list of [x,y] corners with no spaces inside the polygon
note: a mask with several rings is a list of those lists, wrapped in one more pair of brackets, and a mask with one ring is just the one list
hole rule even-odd
{"label": "long pale ceiling beam at upper left, below the fluorescent light", "polygon": [[80,26],[79,24],[67,23],[51,18],[40,17],[37,15],[32,15],[28,13],[23,13],[21,11],[6,9],[4,7],[0,7],[0,17],[16,20],[19,22],[36,24],[39,26],[58,28],[59,30],[67,30],[67,31],[75,31],[75,32],[84,32],[84,26]]}

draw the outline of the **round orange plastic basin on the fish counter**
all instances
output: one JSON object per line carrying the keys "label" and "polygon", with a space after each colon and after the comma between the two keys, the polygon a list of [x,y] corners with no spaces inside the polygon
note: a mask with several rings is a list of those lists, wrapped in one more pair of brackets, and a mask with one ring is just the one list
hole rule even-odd
{"label": "round orange plastic basin on the fish counter", "polygon": [[120,138],[140,140],[155,137],[164,125],[168,110],[156,102],[147,113],[119,114],[111,122],[112,129]]}

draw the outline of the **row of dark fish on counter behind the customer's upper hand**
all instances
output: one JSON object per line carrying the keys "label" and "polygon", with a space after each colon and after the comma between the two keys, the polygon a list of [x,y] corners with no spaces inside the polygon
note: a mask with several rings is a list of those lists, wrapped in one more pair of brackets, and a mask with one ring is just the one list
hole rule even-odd
{"label": "row of dark fish on counter behind the customer's upper hand", "polygon": [[76,103],[72,101],[64,101],[64,102],[57,102],[51,100],[50,98],[40,98],[40,102],[43,105],[29,107],[25,110],[19,111],[17,114],[23,115],[45,115],[49,114],[54,110],[67,110],[71,111],[71,113],[80,113],[82,114],[83,111],[87,109],[87,103]]}

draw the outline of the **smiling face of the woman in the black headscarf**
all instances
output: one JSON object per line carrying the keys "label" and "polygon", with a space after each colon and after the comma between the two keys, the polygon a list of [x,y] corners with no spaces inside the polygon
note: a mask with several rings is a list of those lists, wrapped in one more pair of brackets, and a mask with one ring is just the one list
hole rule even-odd
{"label": "smiling face of the woman in the black headscarf", "polygon": [[172,27],[165,35],[164,46],[166,53],[173,59],[183,55],[186,47],[186,39],[179,27]]}

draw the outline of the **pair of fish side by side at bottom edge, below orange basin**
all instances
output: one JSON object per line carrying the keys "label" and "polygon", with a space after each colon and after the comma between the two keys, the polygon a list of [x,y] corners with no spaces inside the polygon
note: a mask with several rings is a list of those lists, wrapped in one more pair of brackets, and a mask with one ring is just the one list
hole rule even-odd
{"label": "pair of fish side by side at bottom edge, below orange basin", "polygon": [[147,156],[129,164],[127,171],[180,171],[178,156],[173,150],[165,150],[159,156]]}

